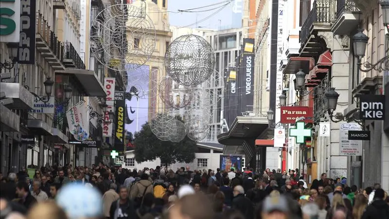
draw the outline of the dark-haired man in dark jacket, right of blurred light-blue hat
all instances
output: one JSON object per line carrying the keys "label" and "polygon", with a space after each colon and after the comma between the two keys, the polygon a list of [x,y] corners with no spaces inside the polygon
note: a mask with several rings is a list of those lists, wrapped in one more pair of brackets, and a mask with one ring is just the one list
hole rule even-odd
{"label": "dark-haired man in dark jacket, right of blurred light-blue hat", "polygon": [[113,201],[109,210],[110,219],[132,219],[136,215],[133,201],[128,199],[127,188],[119,190],[119,200]]}

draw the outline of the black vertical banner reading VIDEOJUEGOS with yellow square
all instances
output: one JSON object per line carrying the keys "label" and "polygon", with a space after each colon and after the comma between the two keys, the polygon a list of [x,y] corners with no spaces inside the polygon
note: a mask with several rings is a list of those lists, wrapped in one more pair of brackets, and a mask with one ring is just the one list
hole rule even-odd
{"label": "black vertical banner reading VIDEOJUEGOS with yellow square", "polygon": [[[243,39],[243,60],[239,75],[238,97],[241,99],[240,111],[253,110],[254,103],[254,39]],[[240,95],[240,96],[239,96]]]}

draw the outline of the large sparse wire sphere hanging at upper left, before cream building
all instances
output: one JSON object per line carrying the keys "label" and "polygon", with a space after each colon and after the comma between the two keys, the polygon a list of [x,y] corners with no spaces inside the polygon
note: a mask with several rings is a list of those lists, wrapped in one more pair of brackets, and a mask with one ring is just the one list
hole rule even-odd
{"label": "large sparse wire sphere hanging at upper left, before cream building", "polygon": [[89,44],[94,57],[107,68],[133,70],[146,63],[155,50],[154,23],[144,7],[115,4],[92,21]]}

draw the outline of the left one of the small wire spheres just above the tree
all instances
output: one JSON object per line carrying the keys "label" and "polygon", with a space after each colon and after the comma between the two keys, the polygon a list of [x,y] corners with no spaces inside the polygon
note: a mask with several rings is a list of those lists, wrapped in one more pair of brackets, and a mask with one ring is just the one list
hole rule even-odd
{"label": "left one of the small wire spheres just above the tree", "polygon": [[161,141],[170,141],[176,131],[176,119],[169,113],[159,113],[151,119],[150,129]]}

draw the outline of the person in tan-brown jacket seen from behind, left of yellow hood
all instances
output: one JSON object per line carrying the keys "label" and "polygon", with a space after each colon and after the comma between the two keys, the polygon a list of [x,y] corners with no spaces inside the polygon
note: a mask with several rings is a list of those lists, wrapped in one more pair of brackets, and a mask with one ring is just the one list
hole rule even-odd
{"label": "person in tan-brown jacket seen from behind, left of yellow hood", "polygon": [[131,186],[130,200],[135,201],[137,206],[141,205],[141,201],[145,194],[154,193],[153,183],[149,181],[149,175],[143,173],[141,180]]}

